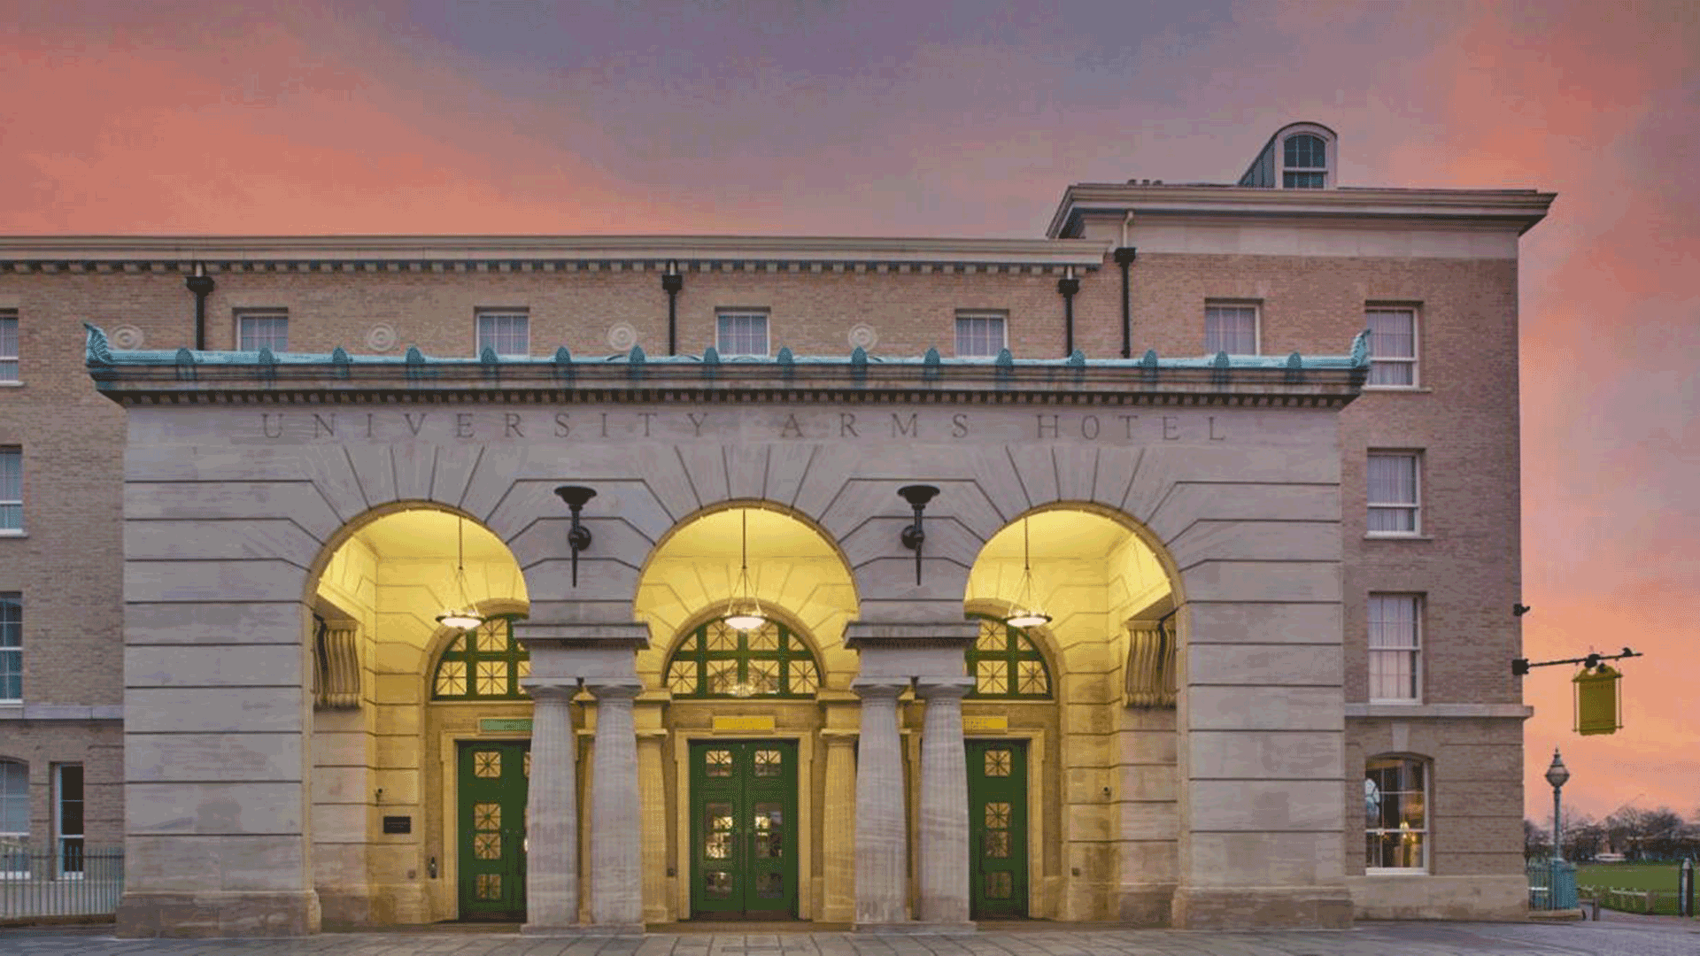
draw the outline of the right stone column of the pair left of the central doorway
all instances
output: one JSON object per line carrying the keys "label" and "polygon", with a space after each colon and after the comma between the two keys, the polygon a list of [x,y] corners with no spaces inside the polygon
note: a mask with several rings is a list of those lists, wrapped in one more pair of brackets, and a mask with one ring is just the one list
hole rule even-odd
{"label": "right stone column of the pair left of the central doorway", "polygon": [[641,813],[634,682],[586,684],[597,696],[595,776],[590,789],[590,932],[641,934]]}

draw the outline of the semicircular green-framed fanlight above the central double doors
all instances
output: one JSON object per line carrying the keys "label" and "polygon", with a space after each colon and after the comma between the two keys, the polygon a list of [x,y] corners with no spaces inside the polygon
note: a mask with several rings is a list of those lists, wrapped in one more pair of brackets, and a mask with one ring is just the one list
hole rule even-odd
{"label": "semicircular green-framed fanlight above the central double doors", "polygon": [[709,621],[673,652],[666,687],[675,697],[813,697],[821,669],[802,638],[777,621],[751,631]]}

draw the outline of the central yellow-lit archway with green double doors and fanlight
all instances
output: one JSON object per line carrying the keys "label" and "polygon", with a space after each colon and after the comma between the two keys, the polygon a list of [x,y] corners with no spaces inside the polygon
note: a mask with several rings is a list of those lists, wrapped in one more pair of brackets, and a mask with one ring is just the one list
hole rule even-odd
{"label": "central yellow-lit archway with green double doors and fanlight", "polygon": [[[734,616],[751,599],[760,623]],[[656,546],[636,600],[658,638],[638,655],[639,779],[665,806],[644,822],[646,919],[848,919],[828,832],[853,825],[855,611],[833,541],[772,502]]]}

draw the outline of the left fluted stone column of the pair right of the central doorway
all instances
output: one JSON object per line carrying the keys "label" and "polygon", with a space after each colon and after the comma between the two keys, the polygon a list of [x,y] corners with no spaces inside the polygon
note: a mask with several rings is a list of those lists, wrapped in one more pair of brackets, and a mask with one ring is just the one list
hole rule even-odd
{"label": "left fluted stone column of the pair right of the central doorway", "polygon": [[862,696],[862,747],[855,769],[857,929],[910,919],[910,840],[898,740],[898,694],[908,686],[896,679],[853,686]]}

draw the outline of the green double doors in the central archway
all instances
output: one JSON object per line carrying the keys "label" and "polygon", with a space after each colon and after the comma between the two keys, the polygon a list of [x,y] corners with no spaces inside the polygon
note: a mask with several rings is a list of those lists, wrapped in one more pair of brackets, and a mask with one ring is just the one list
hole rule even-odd
{"label": "green double doors in the central archway", "polygon": [[690,912],[797,913],[797,743],[690,745]]}

